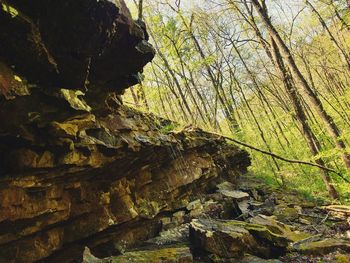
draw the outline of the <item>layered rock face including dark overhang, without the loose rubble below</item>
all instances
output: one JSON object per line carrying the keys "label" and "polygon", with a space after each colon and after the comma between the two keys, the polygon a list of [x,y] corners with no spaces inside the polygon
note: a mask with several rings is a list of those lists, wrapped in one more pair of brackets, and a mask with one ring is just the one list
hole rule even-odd
{"label": "layered rock face including dark overhang, without the loose rubble below", "polygon": [[0,3],[0,262],[121,253],[246,170],[223,139],[120,103],[154,56],[122,0]]}

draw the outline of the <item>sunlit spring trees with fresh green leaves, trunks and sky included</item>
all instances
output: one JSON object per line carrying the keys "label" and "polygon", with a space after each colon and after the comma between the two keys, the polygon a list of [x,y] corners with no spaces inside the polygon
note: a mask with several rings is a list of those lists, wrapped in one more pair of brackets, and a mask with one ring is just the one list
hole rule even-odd
{"label": "sunlit spring trees with fresh green leaves, trunks and sky included", "polygon": [[252,151],[272,184],[350,198],[349,1],[145,0],[143,20],[157,55],[127,103],[335,170]]}

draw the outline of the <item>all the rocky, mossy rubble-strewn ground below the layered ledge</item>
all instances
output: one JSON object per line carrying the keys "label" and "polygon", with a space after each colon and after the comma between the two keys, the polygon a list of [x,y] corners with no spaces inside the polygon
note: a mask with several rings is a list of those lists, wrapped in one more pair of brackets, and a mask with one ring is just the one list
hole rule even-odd
{"label": "all the rocky, mossy rubble-strewn ground below the layered ledge", "polygon": [[[350,262],[350,207],[310,201],[253,176],[224,182],[162,218],[157,237],[85,262]],[[91,258],[93,260],[91,260]],[[89,260],[88,260],[89,259]]]}

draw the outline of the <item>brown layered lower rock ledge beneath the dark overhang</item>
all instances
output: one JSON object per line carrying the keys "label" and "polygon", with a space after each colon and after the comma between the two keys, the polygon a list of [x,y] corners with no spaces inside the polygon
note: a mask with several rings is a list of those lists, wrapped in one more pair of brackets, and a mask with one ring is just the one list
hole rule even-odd
{"label": "brown layered lower rock ledge beneath the dark overhang", "polygon": [[[249,164],[246,152],[215,136],[163,134],[159,120],[124,106],[96,117],[67,103],[56,119],[46,108],[54,104],[40,100],[32,121],[24,106],[35,98],[2,107],[23,109],[1,127],[3,262],[39,260],[110,226],[185,207],[210,183],[234,182]],[[64,98],[50,99],[64,105]]]}

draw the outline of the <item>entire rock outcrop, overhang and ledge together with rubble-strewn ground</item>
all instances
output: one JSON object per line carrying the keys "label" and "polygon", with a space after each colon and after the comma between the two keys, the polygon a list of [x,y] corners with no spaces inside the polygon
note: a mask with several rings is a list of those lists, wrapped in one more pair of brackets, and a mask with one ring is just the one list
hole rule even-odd
{"label": "entire rock outcrop, overhang and ledge together with rubble-strewn ground", "polygon": [[349,262],[349,207],[122,104],[154,56],[123,0],[0,4],[0,262]]}

